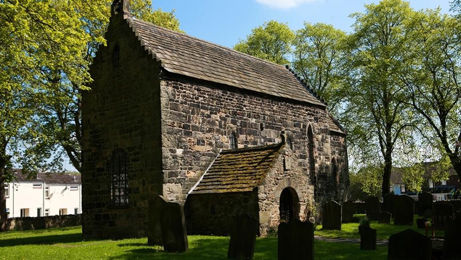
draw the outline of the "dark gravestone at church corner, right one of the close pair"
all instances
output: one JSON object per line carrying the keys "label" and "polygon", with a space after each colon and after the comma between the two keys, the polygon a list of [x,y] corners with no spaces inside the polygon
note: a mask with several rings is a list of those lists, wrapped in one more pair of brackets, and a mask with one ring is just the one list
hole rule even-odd
{"label": "dark gravestone at church corner, right one of the close pair", "polygon": [[184,209],[179,203],[168,202],[161,215],[163,247],[167,252],[188,250]]}

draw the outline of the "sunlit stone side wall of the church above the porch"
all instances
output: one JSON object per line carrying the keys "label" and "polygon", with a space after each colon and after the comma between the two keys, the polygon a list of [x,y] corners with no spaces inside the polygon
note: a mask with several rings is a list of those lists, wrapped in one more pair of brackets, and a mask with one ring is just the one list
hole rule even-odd
{"label": "sunlit stone side wall of the church above the porch", "polygon": [[330,135],[325,109],[169,73],[161,79],[161,109],[163,192],[168,200],[185,201],[219,150],[230,148],[232,132],[244,147],[280,142],[285,131],[309,173],[307,129],[312,125],[317,202],[335,195],[330,189],[332,154],[342,162],[339,171],[347,173],[344,137]]}

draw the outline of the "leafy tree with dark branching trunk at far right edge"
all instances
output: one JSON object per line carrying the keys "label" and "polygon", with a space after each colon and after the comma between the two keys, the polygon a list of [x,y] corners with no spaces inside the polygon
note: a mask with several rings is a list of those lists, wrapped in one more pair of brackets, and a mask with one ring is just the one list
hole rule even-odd
{"label": "leafy tree with dark branching trunk at far right edge", "polygon": [[410,66],[400,70],[410,104],[428,145],[448,157],[461,178],[461,26],[440,9],[418,12],[412,19],[406,49]]}

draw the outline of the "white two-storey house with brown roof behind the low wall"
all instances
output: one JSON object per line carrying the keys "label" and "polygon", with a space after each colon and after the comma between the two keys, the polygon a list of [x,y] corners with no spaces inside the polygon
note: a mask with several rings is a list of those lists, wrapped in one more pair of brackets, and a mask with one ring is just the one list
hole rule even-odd
{"label": "white two-storey house with brown roof behind the low wall", "polygon": [[38,173],[27,178],[20,170],[5,183],[9,218],[79,214],[82,212],[80,175]]}

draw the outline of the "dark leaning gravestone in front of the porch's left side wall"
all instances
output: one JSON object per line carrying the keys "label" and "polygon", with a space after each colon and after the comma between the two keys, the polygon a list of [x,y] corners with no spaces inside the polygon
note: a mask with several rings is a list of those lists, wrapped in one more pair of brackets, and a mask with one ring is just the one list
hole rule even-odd
{"label": "dark leaning gravestone in front of the porch's left side wall", "polygon": [[253,259],[256,235],[258,234],[258,220],[244,214],[235,217],[229,242],[228,259]]}

